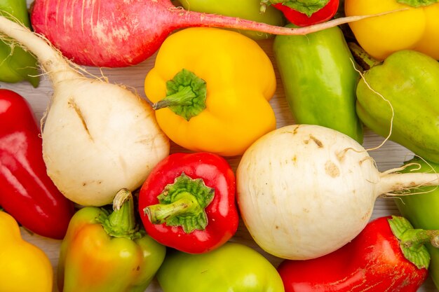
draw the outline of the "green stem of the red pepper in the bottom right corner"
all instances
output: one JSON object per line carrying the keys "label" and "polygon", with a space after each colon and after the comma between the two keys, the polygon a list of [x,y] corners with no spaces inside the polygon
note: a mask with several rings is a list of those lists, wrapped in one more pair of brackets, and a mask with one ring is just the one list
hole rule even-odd
{"label": "green stem of the red pepper in the bottom right corner", "polygon": [[439,230],[414,229],[410,222],[401,216],[392,216],[389,225],[396,238],[400,241],[400,248],[407,260],[410,260],[419,269],[430,264],[430,253],[425,244],[439,247]]}

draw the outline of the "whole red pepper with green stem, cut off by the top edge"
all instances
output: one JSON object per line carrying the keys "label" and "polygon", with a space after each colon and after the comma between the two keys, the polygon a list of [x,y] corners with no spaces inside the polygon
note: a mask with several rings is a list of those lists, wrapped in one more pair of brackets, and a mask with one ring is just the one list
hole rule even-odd
{"label": "whole red pepper with green stem, cut off by the top edge", "polygon": [[[316,25],[317,23],[330,20],[339,8],[339,0],[320,1],[326,2],[321,8],[314,8],[316,1],[312,1],[312,5],[306,6],[306,2],[303,1],[262,0],[262,3],[267,2],[271,3],[274,8],[282,11],[289,22],[299,27]],[[297,6],[297,4],[301,5]]]}

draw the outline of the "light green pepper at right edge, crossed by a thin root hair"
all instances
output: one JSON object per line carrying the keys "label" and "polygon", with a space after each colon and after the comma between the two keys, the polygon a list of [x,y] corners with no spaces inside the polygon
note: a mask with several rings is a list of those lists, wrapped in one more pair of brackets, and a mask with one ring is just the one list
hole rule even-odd
{"label": "light green pepper at right edge, crossed by a thin root hair", "polygon": [[438,92],[439,63],[400,50],[364,73],[356,89],[356,111],[370,130],[382,137],[391,130],[392,141],[439,162]]}

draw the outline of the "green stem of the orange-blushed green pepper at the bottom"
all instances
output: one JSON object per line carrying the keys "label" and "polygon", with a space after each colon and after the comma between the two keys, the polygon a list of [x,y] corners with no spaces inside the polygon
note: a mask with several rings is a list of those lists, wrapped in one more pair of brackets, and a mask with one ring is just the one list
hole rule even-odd
{"label": "green stem of the orange-blushed green pepper at the bottom", "polygon": [[133,194],[123,188],[113,200],[113,211],[108,216],[102,215],[98,221],[108,235],[113,237],[140,238],[139,225],[135,220]]}

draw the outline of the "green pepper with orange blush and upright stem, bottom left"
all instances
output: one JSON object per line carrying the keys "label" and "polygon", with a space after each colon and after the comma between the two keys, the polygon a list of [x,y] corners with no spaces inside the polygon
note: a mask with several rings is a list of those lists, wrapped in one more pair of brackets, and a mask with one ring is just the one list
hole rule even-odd
{"label": "green pepper with orange blush and upright stem, bottom left", "polygon": [[136,223],[129,190],[116,194],[113,208],[84,207],[74,214],[60,247],[60,291],[140,292],[149,286],[166,247]]}

